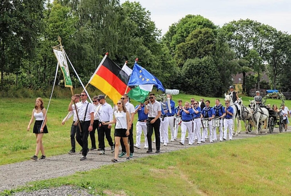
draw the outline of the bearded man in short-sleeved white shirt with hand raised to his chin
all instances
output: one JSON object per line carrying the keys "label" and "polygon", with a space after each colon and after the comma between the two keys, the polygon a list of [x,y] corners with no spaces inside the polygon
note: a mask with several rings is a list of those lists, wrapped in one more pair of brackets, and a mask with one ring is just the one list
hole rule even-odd
{"label": "bearded man in short-sleeved white shirt with hand raised to his chin", "polygon": [[155,140],[156,140],[156,153],[160,151],[160,116],[162,114],[161,103],[155,100],[155,94],[149,94],[149,103],[146,102],[145,114],[148,114],[147,125],[147,138],[148,138],[148,151],[147,153],[152,153],[152,133],[155,130]]}

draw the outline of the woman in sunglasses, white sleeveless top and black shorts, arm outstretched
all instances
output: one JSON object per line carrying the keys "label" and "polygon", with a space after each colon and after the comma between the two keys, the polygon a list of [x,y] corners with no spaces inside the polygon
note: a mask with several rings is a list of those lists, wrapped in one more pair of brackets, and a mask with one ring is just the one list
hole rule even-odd
{"label": "woman in sunglasses, white sleeveless top and black shorts, arm outstretched", "polygon": [[126,149],[126,160],[129,158],[129,144],[128,144],[128,136],[129,136],[129,120],[130,115],[127,112],[125,104],[123,100],[118,100],[117,102],[118,109],[114,111],[113,121],[110,122],[102,122],[103,125],[109,125],[115,123],[115,131],[114,131],[114,139],[115,139],[115,149],[114,149],[114,158],[111,159],[112,162],[117,162],[118,158],[118,150],[120,138],[123,139],[125,149]]}

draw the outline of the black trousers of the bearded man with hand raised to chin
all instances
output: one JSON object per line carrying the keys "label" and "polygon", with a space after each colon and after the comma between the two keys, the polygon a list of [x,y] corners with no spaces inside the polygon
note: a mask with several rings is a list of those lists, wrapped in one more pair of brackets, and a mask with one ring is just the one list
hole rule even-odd
{"label": "black trousers of the bearded man with hand raised to chin", "polygon": [[154,118],[148,118],[146,120],[146,129],[147,134],[146,137],[148,138],[148,150],[152,150],[152,133],[155,130],[155,138],[156,138],[156,150],[160,150],[161,140],[160,140],[160,124],[161,120],[158,118],[155,123],[150,123],[150,121]]}

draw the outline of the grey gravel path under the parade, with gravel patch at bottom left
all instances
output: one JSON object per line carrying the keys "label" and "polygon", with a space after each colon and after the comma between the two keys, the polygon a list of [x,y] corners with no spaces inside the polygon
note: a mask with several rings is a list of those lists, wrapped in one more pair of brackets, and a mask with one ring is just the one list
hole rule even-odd
{"label": "grey gravel path under the parade, with gravel patch at bottom left", "polygon": [[[274,132],[272,134],[278,133],[278,129],[274,129]],[[259,134],[259,136],[265,135]],[[238,136],[234,136],[233,139],[242,139],[242,138],[248,138],[248,137],[254,137],[256,136],[254,132],[252,131],[249,134],[245,134],[245,132],[242,132]],[[219,135],[218,135],[219,137]],[[187,144],[187,140],[185,141],[185,144]],[[217,141],[218,142],[218,141]],[[214,142],[214,143],[217,143]],[[225,141],[223,141],[225,142]],[[205,145],[210,144],[209,140],[206,140],[206,143],[200,144]],[[167,146],[161,145],[161,151],[163,152],[170,152],[174,150],[180,150],[182,148],[189,148],[193,146],[197,146],[199,144],[194,145],[180,145],[178,141],[169,142]],[[143,147],[143,144],[142,144]],[[46,159],[39,160],[39,161],[23,161],[19,163],[13,163],[8,165],[0,166],[0,192],[5,189],[12,189],[16,188],[19,185],[24,185],[29,181],[36,181],[36,180],[42,180],[42,179],[49,179],[49,178],[55,178],[60,176],[66,176],[75,173],[76,171],[86,171],[93,168],[99,168],[102,165],[108,165],[113,164],[111,162],[111,158],[113,158],[113,154],[110,153],[110,149],[105,149],[104,155],[99,155],[99,151],[90,151],[87,155],[87,160],[85,161],[85,166],[80,167],[80,160],[81,154],[62,154],[58,156],[53,157],[47,157]],[[153,152],[155,152],[155,144],[153,143]],[[156,153],[152,153],[156,154]],[[152,155],[151,154],[151,155]],[[146,149],[135,149],[134,151],[134,158],[137,159],[139,157],[145,157],[150,154],[146,153]],[[118,162],[125,161],[125,158],[118,159]],[[115,163],[116,164],[116,163]],[[36,168],[41,168],[41,170],[38,170]],[[40,173],[41,171],[41,173]],[[54,189],[48,189],[48,190],[39,190],[36,191],[38,194],[36,195],[56,195],[53,194],[53,190],[57,190],[58,193],[63,193],[62,195],[81,195],[84,193],[84,195],[88,195],[88,193],[81,190],[80,191],[74,187],[71,186],[63,186],[61,187],[64,190],[60,191],[59,188]],[[71,193],[69,189],[72,189],[70,191],[75,191]],[[68,193],[66,192],[68,191]],[[83,192],[82,192],[83,191]],[[31,195],[31,193],[29,194]]]}

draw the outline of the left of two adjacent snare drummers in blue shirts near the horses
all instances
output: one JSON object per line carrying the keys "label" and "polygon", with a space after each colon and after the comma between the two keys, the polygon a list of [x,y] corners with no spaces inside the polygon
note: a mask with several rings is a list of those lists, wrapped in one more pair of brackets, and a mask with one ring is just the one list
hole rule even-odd
{"label": "left of two adjacent snare drummers in blue shirts near the horses", "polygon": [[[208,119],[208,127],[209,127],[209,139],[210,142],[213,142],[213,137],[212,137],[212,119],[214,118],[214,109],[209,106],[210,101],[206,100],[205,101],[205,107],[203,108],[201,112],[201,118]],[[205,142],[205,135],[207,135],[207,127],[203,128],[203,133],[202,133],[202,139],[201,142]]]}

